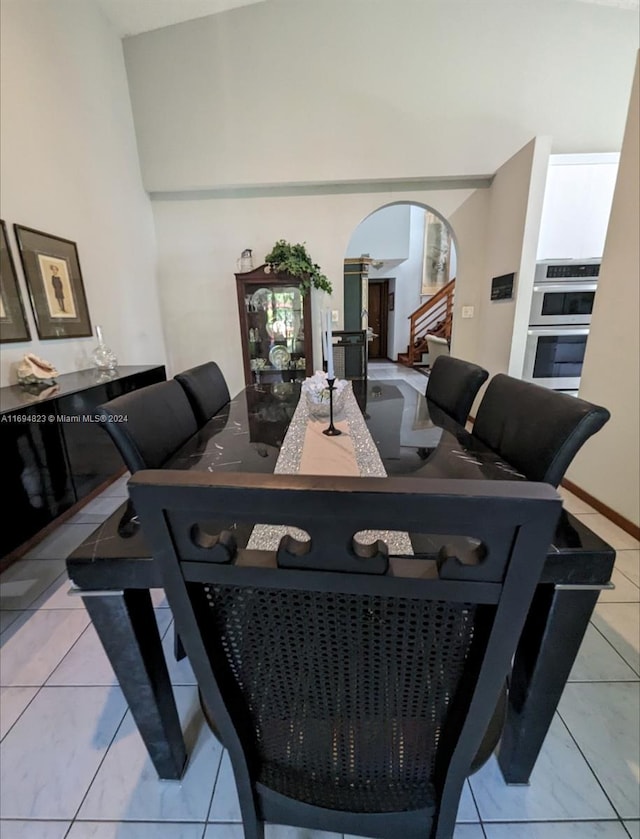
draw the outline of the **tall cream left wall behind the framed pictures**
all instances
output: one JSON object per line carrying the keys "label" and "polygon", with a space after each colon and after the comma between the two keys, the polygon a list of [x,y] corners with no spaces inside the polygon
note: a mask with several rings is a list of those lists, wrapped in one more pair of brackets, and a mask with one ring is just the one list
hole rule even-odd
{"label": "tall cream left wall behind the framed pictures", "polygon": [[77,243],[89,314],[123,364],[164,362],[155,236],[142,187],[122,44],[92,3],[2,0],[1,215],[33,340],[3,344],[1,383],[25,352],[90,367],[93,337],[40,341],[13,223]]}

